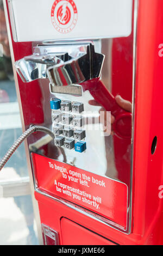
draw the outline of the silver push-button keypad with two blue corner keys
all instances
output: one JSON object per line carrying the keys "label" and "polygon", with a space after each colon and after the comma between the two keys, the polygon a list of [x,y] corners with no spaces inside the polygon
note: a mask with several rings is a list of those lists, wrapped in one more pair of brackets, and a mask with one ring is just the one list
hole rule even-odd
{"label": "silver push-button keypad with two blue corner keys", "polygon": [[[86,150],[82,102],[51,99],[54,144],[82,153]],[[57,110],[57,111],[54,111]],[[70,114],[68,113],[70,112]]]}

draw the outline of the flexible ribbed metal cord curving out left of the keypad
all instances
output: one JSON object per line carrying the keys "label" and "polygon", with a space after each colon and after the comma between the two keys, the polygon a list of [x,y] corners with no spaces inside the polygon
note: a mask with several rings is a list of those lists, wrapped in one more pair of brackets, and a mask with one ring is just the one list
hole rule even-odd
{"label": "flexible ribbed metal cord curving out left of the keypad", "polygon": [[5,163],[7,163],[7,161],[10,159],[12,154],[14,154],[15,150],[21,145],[21,143],[24,141],[24,139],[26,139],[29,135],[31,135],[33,132],[36,132],[36,131],[46,132],[52,138],[54,138],[54,133],[51,130],[49,130],[48,128],[43,127],[43,126],[30,125],[29,129],[27,131],[23,132],[23,134],[20,137],[18,137],[18,139],[14,142],[14,144],[11,146],[11,148],[8,150],[8,152],[5,154],[5,156],[1,160],[0,171],[4,167]]}

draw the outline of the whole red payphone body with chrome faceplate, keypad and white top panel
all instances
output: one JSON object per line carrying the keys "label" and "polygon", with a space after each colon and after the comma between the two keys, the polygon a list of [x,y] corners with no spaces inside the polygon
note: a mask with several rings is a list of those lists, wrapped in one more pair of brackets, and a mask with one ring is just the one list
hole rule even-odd
{"label": "whole red payphone body with chrome faceplate, keypad and white top panel", "polygon": [[43,243],[162,244],[162,2],[4,4]]}

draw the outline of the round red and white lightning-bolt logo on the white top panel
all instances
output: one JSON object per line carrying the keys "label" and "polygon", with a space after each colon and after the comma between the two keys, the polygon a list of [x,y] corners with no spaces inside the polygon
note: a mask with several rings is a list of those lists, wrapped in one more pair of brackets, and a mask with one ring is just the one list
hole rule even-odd
{"label": "round red and white lightning-bolt logo on the white top panel", "polygon": [[71,32],[76,26],[78,11],[72,0],[55,0],[51,10],[52,23],[60,33]]}

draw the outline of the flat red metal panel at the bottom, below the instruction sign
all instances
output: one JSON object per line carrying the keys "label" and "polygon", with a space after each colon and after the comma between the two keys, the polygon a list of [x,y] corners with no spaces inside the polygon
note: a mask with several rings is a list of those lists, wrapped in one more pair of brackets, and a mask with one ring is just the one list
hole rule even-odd
{"label": "flat red metal panel at the bottom, below the instruction sign", "polygon": [[115,245],[66,218],[61,218],[61,236],[63,245]]}

